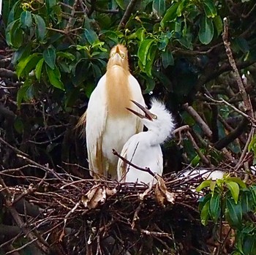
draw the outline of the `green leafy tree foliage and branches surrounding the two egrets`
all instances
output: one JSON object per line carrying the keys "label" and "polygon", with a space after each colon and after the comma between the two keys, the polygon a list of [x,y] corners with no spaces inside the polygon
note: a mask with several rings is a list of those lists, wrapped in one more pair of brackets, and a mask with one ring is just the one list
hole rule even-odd
{"label": "green leafy tree foliage and branches surrounding the two egrets", "polygon": [[[190,127],[181,142],[165,144],[165,172],[184,163],[239,175],[256,158],[255,12],[253,0],[4,1],[1,35],[12,52],[0,59],[1,136],[40,164],[88,176],[64,162],[86,166],[74,126],[119,42],[127,45],[146,102],[157,96],[178,126]],[[224,18],[232,54],[223,42]],[[17,151],[3,148],[4,169],[23,166]],[[40,175],[33,167],[28,172]],[[255,186],[230,178],[202,185],[211,190],[200,203],[203,223],[225,218],[237,230],[235,254],[254,254],[255,221],[244,215],[255,211]]]}

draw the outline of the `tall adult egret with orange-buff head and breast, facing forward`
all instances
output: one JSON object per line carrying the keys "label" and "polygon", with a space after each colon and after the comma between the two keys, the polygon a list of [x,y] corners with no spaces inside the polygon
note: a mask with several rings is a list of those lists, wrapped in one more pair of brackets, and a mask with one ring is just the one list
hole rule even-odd
{"label": "tall adult egret with orange-buff head and breast, facing forward", "polygon": [[130,100],[145,105],[140,85],[129,72],[127,48],[116,45],[110,50],[107,72],[91,94],[86,113],[86,145],[89,170],[94,178],[117,178],[118,153],[133,134],[143,130],[143,123],[126,107],[139,110]]}

